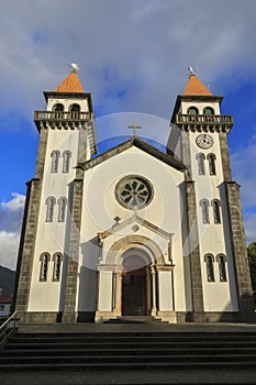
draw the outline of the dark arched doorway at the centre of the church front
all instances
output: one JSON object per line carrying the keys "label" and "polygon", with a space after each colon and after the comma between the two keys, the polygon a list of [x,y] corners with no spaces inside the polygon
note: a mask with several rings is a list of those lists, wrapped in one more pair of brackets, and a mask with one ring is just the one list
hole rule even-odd
{"label": "dark arched doorway at the centre of the church front", "polygon": [[146,316],[148,308],[148,267],[136,253],[126,253],[122,270],[122,315]]}

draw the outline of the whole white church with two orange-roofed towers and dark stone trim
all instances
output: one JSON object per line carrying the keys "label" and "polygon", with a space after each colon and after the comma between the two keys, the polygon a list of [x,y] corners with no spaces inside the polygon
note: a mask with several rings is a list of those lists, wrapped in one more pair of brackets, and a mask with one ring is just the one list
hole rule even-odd
{"label": "whole white church with two orange-roofed towers and dark stone trim", "polygon": [[129,140],[100,154],[92,96],[76,68],[44,97],[16,266],[21,322],[252,321],[223,97],[191,72],[166,151],[140,139],[134,123]]}

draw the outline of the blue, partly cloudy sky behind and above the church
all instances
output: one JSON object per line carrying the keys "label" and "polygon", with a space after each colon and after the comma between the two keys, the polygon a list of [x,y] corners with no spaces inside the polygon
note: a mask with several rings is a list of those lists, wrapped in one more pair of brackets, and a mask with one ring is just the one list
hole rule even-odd
{"label": "blue, partly cloudy sky behind and above the church", "polygon": [[[0,4],[0,264],[15,268],[25,182],[34,175],[34,110],[80,66],[98,140],[141,135],[165,144],[188,66],[234,116],[229,134],[247,242],[256,240],[256,2],[254,0],[9,0]],[[152,119],[149,119],[152,117]]]}

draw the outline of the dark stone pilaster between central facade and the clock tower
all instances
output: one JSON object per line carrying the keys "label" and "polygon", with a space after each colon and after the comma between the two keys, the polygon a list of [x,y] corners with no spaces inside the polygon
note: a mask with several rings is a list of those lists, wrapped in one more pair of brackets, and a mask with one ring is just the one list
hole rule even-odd
{"label": "dark stone pilaster between central facade and the clock tower", "polygon": [[191,275],[191,294],[192,294],[192,319],[194,322],[205,321],[202,295],[202,277],[198,237],[198,220],[196,207],[194,183],[186,182],[186,199],[187,199],[187,223],[188,223],[188,244],[189,244],[189,262]]}

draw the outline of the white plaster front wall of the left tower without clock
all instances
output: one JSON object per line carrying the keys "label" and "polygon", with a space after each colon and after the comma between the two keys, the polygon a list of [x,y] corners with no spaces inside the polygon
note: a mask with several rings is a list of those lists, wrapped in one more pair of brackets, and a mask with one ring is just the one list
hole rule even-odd
{"label": "white plaster front wall of the left tower without clock", "polygon": [[[60,252],[65,256],[66,230],[68,227],[69,210],[66,212],[65,222],[57,221],[58,206],[55,206],[53,222],[46,222],[46,199],[49,196],[56,198],[69,196],[69,184],[75,178],[75,166],[77,164],[78,130],[53,130],[49,129],[48,142],[45,156],[45,168],[41,206],[38,212],[37,234],[35,242],[31,293],[29,311],[58,311],[60,307],[60,282],[53,282],[52,257],[54,253]],[[58,173],[51,173],[54,150],[60,152]],[[63,173],[62,153],[66,150],[71,152],[70,172]],[[40,282],[41,262],[40,255],[44,252],[51,254],[47,282]],[[62,274],[60,274],[62,276]]]}

